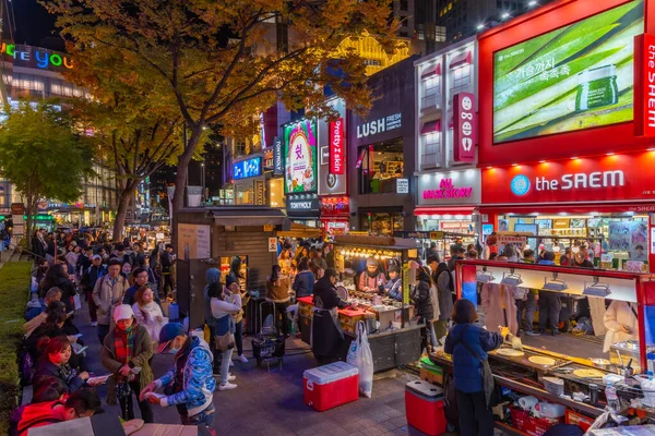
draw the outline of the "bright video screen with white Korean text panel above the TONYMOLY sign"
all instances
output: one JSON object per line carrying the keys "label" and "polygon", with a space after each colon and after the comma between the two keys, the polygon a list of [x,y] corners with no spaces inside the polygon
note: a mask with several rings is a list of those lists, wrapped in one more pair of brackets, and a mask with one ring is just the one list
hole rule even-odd
{"label": "bright video screen with white Korean text panel above the TONYMOLY sign", "polygon": [[317,177],[317,124],[303,120],[284,128],[284,192],[315,192]]}

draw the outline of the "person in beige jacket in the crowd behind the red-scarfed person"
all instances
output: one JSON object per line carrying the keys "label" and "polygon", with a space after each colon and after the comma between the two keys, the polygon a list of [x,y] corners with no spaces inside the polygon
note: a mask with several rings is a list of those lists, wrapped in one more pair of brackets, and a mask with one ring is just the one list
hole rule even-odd
{"label": "person in beige jacket in the crowd behind the red-scarfed person", "polygon": [[97,306],[98,339],[105,343],[105,337],[112,325],[111,313],[117,305],[122,304],[126,291],[130,287],[128,279],[120,275],[121,262],[117,258],[109,261],[108,274],[96,281],[93,289],[93,301]]}

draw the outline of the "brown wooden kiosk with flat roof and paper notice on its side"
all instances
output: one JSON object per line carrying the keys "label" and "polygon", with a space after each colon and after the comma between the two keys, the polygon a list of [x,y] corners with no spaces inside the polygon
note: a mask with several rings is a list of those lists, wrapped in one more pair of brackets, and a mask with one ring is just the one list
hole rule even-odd
{"label": "brown wooden kiosk with flat roof and paper notice on its side", "polygon": [[[239,284],[255,298],[263,298],[266,277],[277,262],[276,246],[269,246],[275,232],[289,221],[279,209],[265,206],[219,206],[184,208],[177,215],[177,300],[180,313],[191,327],[204,324],[203,290],[209,268],[221,269],[221,280],[239,261]],[[273,250],[272,250],[273,249]],[[257,300],[257,299],[252,299]],[[253,331],[257,311],[246,308],[246,331]]]}

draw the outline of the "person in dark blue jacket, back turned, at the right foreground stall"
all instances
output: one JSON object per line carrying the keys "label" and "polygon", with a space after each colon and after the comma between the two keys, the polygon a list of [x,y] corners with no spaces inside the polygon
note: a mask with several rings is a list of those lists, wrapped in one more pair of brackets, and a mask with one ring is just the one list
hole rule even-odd
{"label": "person in dark blue jacket, back turned, at the right foreground stall", "polygon": [[[460,434],[492,436],[493,413],[489,404],[493,377],[488,371],[487,353],[500,348],[509,329],[501,334],[488,331],[475,324],[477,312],[468,300],[457,300],[443,351],[452,355]],[[489,379],[490,377],[490,379]]]}

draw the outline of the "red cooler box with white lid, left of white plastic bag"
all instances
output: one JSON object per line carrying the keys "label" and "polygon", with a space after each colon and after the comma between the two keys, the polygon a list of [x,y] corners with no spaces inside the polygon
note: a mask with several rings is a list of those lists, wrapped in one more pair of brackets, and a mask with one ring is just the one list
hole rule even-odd
{"label": "red cooler box with white lid, left of white plastic bag", "polygon": [[345,362],[307,370],[303,374],[305,403],[323,412],[359,398],[359,372]]}

